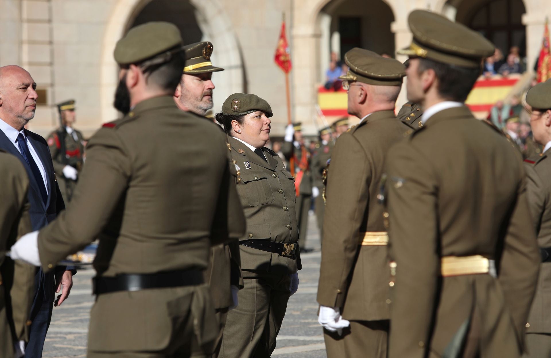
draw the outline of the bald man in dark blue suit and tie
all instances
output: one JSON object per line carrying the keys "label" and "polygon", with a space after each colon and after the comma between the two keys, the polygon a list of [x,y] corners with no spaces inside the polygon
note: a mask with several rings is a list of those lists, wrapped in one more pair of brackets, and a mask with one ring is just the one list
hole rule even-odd
{"label": "bald man in dark blue suit and tie", "polygon": [[[30,217],[33,230],[38,230],[65,209],[46,140],[26,130],[36,110],[36,83],[30,73],[19,66],[0,67],[0,148],[12,153],[23,163],[29,176]],[[59,306],[69,295],[74,269],[58,266],[35,276],[35,297],[30,314],[30,340],[25,356],[42,356],[46,332],[52,317],[55,292]]]}

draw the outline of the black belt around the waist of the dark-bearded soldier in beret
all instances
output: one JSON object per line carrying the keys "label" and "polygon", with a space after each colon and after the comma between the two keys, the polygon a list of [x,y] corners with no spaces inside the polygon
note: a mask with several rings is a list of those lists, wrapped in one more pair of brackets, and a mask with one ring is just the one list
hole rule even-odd
{"label": "black belt around the waist of the dark-bearded soldier in beret", "polygon": [[203,284],[203,271],[176,270],[157,274],[121,274],[115,277],[94,277],[94,295],[117,291],[139,291],[147,288],[195,286]]}

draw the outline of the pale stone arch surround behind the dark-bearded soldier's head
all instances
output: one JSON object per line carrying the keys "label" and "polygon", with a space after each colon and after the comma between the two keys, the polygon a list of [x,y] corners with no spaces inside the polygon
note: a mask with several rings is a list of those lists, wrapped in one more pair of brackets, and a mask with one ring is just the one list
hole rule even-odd
{"label": "pale stone arch surround behind the dark-bearded soldier's head", "polygon": [[[118,116],[112,106],[118,84],[118,66],[113,59],[115,45],[134,23],[141,10],[152,1],[154,0],[118,0],[105,26],[100,70],[101,119],[104,122],[114,120]],[[225,93],[244,90],[244,67],[239,44],[219,0],[189,2],[196,9],[196,18],[203,39],[213,42],[213,61],[217,66],[225,68],[225,71],[217,73],[215,83],[215,92],[222,95],[214,96],[214,108],[221,108]]]}

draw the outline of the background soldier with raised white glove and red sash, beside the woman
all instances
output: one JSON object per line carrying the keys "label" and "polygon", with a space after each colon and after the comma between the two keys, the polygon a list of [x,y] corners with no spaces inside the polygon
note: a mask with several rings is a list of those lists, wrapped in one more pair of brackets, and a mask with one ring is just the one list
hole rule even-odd
{"label": "background soldier with raised white glove and red sash, beside the woman", "polygon": [[289,170],[295,178],[296,221],[300,233],[300,247],[307,252],[308,211],[312,205],[312,174],[310,151],[304,145],[302,124],[290,124],[285,129],[285,141],[281,151],[289,161]]}

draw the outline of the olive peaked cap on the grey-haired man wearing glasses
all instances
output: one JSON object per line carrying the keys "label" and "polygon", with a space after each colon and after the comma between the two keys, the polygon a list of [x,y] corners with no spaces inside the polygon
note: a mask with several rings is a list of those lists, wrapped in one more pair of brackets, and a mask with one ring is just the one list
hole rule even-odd
{"label": "olive peaked cap on the grey-haired man wearing glasses", "polygon": [[359,81],[376,86],[400,86],[406,67],[394,58],[382,57],[373,51],[354,49],[344,55],[350,71],[339,79]]}

